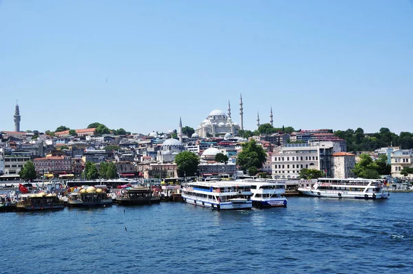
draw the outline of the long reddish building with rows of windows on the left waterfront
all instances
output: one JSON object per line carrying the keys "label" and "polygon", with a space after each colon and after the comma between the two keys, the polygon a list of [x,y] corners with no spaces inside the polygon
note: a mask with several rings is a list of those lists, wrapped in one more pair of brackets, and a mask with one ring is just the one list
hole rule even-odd
{"label": "long reddish building with rows of windows on the left waterfront", "polygon": [[33,160],[36,172],[39,174],[70,174],[72,173],[72,157],[50,156]]}

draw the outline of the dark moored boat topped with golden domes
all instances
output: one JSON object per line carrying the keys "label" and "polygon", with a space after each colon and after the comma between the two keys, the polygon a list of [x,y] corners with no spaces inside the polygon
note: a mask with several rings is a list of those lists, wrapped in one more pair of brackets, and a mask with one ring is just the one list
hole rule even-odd
{"label": "dark moored boat topped with golden domes", "polygon": [[112,205],[112,198],[103,189],[82,188],[67,195],[69,207],[107,207]]}

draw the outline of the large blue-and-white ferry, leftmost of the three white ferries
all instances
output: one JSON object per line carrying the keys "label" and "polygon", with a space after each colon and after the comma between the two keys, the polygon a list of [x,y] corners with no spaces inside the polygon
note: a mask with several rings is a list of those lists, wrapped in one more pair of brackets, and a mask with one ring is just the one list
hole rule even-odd
{"label": "large blue-and-white ferry, leftmost of the three white ferries", "polygon": [[251,185],[233,182],[189,182],[182,186],[184,202],[211,209],[251,209]]}

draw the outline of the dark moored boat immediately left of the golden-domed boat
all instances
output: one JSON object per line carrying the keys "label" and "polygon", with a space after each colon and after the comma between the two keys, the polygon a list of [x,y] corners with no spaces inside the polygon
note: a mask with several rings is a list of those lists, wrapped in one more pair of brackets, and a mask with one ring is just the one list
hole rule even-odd
{"label": "dark moored boat immediately left of the golden-domed boat", "polygon": [[65,205],[55,194],[40,193],[21,193],[17,200],[17,211],[34,211],[47,209],[63,209]]}

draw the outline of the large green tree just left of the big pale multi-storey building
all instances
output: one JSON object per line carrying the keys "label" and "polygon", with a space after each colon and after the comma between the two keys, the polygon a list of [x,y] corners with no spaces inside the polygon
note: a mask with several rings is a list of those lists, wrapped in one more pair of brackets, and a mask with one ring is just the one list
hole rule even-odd
{"label": "large green tree just left of the big pale multi-storey building", "polygon": [[242,144],[242,151],[238,154],[237,165],[245,172],[250,167],[262,168],[266,162],[267,154],[262,146],[257,145],[255,140]]}

